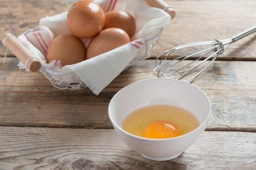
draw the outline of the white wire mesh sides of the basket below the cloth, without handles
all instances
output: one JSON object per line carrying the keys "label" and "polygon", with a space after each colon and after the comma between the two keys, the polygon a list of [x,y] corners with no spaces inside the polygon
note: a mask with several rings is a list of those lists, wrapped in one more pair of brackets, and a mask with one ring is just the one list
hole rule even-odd
{"label": "white wire mesh sides of the basket below the cloth, without handles", "polygon": [[[150,53],[153,50],[153,46],[156,45],[158,39],[161,37],[162,32],[164,31],[163,28],[160,29],[160,31],[153,36],[152,38],[149,38],[145,41],[144,45],[136,53],[136,55],[133,57],[133,59],[130,61],[130,63],[124,68],[127,69],[129,66],[138,63],[140,60],[147,59],[150,57]],[[123,71],[124,71],[123,70]],[[39,70],[44,76],[52,83],[52,85],[58,89],[70,89],[70,90],[78,90],[78,89],[84,89],[87,88],[87,86],[84,84],[83,81],[81,81],[77,75],[73,71],[68,71],[65,73],[57,73],[53,72],[49,69],[46,69],[43,65]],[[74,81],[68,82],[65,80],[65,77],[73,77]]]}

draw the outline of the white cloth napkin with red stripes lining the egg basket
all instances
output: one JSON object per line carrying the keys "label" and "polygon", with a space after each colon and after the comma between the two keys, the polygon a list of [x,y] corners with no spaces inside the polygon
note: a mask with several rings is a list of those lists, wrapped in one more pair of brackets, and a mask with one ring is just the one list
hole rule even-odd
{"label": "white cloth napkin with red stripes lining the egg basket", "polygon": [[[171,17],[163,10],[153,8],[142,0],[95,0],[94,2],[98,3],[104,12],[121,10],[135,18],[137,29],[136,34],[131,38],[131,43],[77,64],[65,67],[61,67],[59,61],[47,64],[45,58],[52,39],[60,34],[70,33],[66,24],[67,12],[42,18],[38,27],[24,32],[18,39],[46,69],[59,73],[72,70],[93,93],[98,95],[140,51],[145,39],[156,35],[162,27],[168,25]],[[82,40],[88,47],[92,39]],[[25,68],[21,62],[18,66],[20,69]],[[66,83],[77,79],[74,76],[62,78]]]}

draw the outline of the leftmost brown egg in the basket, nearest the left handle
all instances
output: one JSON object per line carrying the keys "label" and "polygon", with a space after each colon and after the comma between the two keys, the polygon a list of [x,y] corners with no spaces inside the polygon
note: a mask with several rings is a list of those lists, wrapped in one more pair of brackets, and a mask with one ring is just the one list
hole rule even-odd
{"label": "leftmost brown egg in the basket, nearest the left handle", "polygon": [[85,60],[86,48],[81,39],[71,34],[62,34],[52,40],[47,51],[47,63],[60,60],[61,66]]}

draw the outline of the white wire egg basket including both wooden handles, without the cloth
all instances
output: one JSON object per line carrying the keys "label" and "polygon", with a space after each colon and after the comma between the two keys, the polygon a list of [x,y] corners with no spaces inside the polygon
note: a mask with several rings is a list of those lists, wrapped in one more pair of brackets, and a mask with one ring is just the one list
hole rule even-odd
{"label": "white wire egg basket including both wooden handles, without the cloth", "polygon": [[[104,0],[101,0],[101,1],[104,1]],[[122,0],[120,0],[120,1],[122,1]],[[148,1],[148,0],[146,0],[146,1]],[[137,2],[137,1],[135,1],[135,2]],[[167,5],[162,0],[153,0],[153,1],[151,0],[148,2],[151,3],[151,4],[148,3],[151,6],[161,8],[164,11],[169,10],[169,11],[171,11],[172,14],[174,12],[172,6]],[[154,3],[152,4],[152,2],[154,2]],[[174,15],[175,15],[175,13],[174,13]],[[36,29],[36,28],[34,28],[34,29]],[[32,29],[32,30],[34,30],[34,29]],[[153,46],[156,45],[158,39],[162,35],[163,30],[164,30],[164,28],[160,27],[157,29],[157,31],[155,31],[153,34],[148,36],[147,39],[145,39],[143,46],[140,47],[140,50],[133,56],[132,60],[123,69],[123,71],[125,69],[127,69],[129,66],[139,62],[140,60],[144,60],[144,59],[150,57],[150,53],[152,52]],[[24,32],[22,35],[26,36],[26,33],[28,33],[29,31],[31,31],[31,30]],[[20,59],[21,62],[19,65],[22,65],[22,68],[27,68],[27,70],[30,70],[30,71],[33,71],[33,69],[35,71],[37,71],[40,68],[39,71],[52,83],[52,85],[54,87],[56,87],[58,89],[70,89],[70,90],[84,89],[87,87],[86,84],[76,75],[76,73],[74,71],[68,70],[65,72],[55,72],[51,69],[48,69],[44,65],[45,61],[44,61],[44,63],[42,63],[42,60],[41,61],[39,60],[39,62],[38,62],[38,58],[33,56],[29,52],[29,50],[26,49],[25,46],[23,46],[24,43],[20,43],[15,36],[13,36],[9,33],[6,33],[2,36],[1,40],[4,44],[4,46],[6,46],[14,55],[17,56],[17,58]],[[38,67],[38,69],[37,69],[37,67]],[[67,81],[67,78],[69,78],[69,81]],[[70,81],[70,80],[72,80],[72,81]]]}

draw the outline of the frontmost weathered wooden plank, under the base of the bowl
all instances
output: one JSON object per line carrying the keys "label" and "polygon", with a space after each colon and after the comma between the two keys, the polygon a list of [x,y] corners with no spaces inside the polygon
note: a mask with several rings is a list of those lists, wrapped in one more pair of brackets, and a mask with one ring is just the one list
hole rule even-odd
{"label": "frontmost weathered wooden plank, under the base of the bowl", "polygon": [[255,169],[256,133],[208,132],[181,156],[152,161],[114,130],[0,127],[1,169]]}

